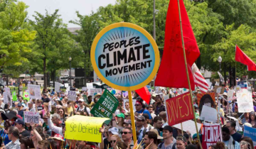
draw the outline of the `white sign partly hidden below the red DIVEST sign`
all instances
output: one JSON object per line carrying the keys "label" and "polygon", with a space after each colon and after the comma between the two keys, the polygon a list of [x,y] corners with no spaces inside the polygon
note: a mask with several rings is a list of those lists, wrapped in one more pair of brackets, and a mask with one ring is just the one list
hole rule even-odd
{"label": "white sign partly hidden below the red DIVEST sign", "polygon": [[[197,126],[198,126],[198,130],[199,130],[201,128],[201,123],[197,123]],[[178,128],[181,130],[181,123],[178,123],[172,127],[175,127],[175,128]],[[191,120],[184,121],[184,122],[182,122],[182,127],[183,127],[183,131],[189,131],[189,132],[191,132],[191,134],[196,133],[196,125],[195,125],[194,121],[191,121]]]}

